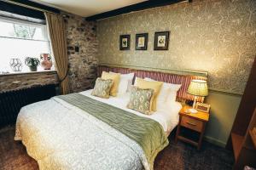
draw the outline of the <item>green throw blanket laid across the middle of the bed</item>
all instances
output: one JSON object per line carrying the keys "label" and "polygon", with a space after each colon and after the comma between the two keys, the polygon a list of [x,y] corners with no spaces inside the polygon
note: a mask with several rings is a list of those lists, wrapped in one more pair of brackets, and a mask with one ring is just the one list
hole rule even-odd
{"label": "green throw blanket laid across the middle of the bed", "polygon": [[136,141],[142,147],[150,169],[153,169],[155,156],[169,144],[160,123],[152,119],[137,116],[82,94],[67,94],[57,96],[57,98],[79,107],[79,109],[95,116],[102,122],[108,123],[109,126]]}

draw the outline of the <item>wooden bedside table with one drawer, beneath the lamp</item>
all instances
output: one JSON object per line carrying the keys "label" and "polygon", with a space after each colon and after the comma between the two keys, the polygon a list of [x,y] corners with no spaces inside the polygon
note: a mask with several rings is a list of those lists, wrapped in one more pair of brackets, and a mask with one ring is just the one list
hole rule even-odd
{"label": "wooden bedside table with one drawer, beneath the lamp", "polygon": [[[197,113],[187,113],[186,111],[192,108],[189,105],[183,106],[182,110],[179,111],[179,122],[177,125],[177,132],[175,142],[177,140],[182,140],[183,142],[187,142],[189,144],[193,144],[197,146],[197,150],[201,149],[201,141],[203,139],[206,124],[209,121],[209,113],[198,111]],[[193,130],[197,133],[200,133],[200,137],[198,141],[187,139],[180,134],[181,127],[187,127],[190,130]]]}

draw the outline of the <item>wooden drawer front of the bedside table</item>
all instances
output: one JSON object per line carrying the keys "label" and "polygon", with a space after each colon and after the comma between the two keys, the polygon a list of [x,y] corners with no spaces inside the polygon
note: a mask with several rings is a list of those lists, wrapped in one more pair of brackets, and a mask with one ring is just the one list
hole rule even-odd
{"label": "wooden drawer front of the bedside table", "polygon": [[188,127],[197,132],[201,132],[203,127],[203,122],[196,119],[192,119],[189,116],[182,116],[181,126]]}

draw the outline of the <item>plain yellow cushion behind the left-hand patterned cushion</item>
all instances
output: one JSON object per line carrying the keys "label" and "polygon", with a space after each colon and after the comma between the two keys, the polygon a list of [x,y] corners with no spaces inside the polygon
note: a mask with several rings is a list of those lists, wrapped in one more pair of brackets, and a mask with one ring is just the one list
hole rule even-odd
{"label": "plain yellow cushion behind the left-hand patterned cushion", "polygon": [[108,73],[106,71],[103,71],[102,72],[102,79],[103,80],[108,80],[108,79],[113,80],[113,86],[110,89],[110,95],[116,96],[117,93],[118,93],[118,90],[119,90],[120,74],[119,73],[111,74],[111,73]]}

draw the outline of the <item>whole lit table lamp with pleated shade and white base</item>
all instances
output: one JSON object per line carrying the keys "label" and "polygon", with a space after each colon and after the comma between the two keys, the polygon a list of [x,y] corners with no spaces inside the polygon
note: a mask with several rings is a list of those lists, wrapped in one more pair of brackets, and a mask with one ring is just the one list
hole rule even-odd
{"label": "whole lit table lamp with pleated shade and white base", "polygon": [[196,113],[195,104],[197,97],[205,97],[208,95],[207,81],[205,80],[192,80],[189,84],[188,94],[194,95],[193,109],[189,109],[190,113]]}

